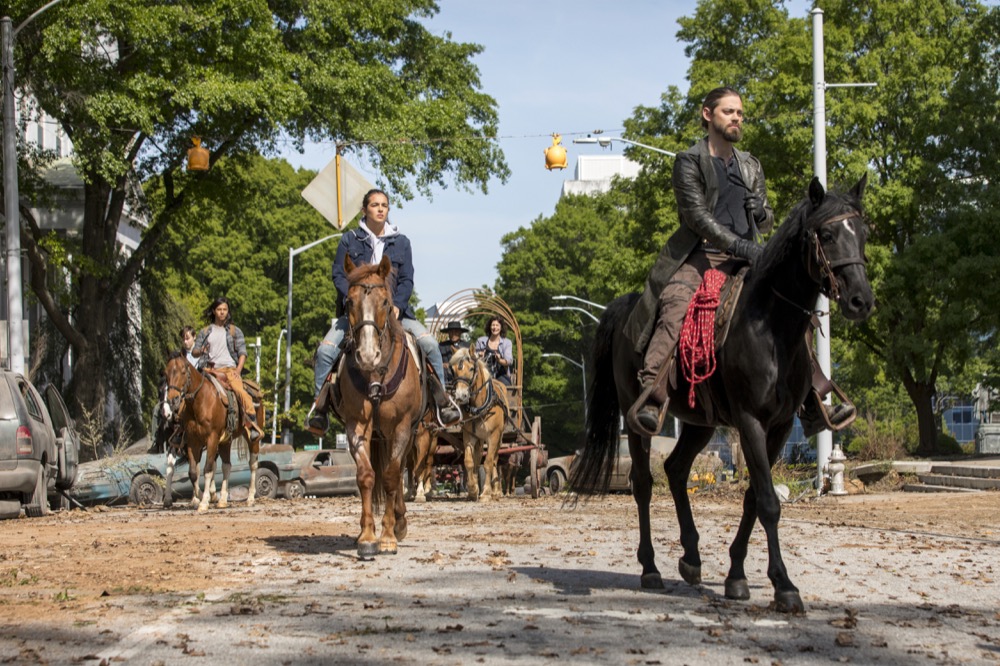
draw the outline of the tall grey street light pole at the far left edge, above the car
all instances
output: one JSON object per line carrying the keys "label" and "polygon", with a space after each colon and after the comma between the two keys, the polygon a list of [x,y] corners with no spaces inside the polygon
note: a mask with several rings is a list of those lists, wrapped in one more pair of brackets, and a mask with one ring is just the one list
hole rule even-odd
{"label": "tall grey street light pole at the far left edge, above the car", "polygon": [[29,349],[24,321],[24,285],[21,280],[21,213],[17,188],[17,127],[14,118],[14,38],[24,26],[49,7],[62,0],[52,0],[13,28],[9,16],[0,19],[0,65],[3,68],[3,193],[7,240],[7,356],[12,372],[24,374],[25,350]]}

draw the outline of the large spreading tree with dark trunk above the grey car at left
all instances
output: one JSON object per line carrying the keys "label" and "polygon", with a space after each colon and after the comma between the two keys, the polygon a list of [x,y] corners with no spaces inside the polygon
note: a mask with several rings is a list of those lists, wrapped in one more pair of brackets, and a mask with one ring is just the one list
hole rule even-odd
{"label": "large spreading tree with dark trunk above the grey car at left", "polygon": [[[16,0],[9,14],[17,23],[35,5]],[[109,341],[122,329],[134,337],[129,294],[163,239],[193,207],[225,195],[209,175],[183,170],[191,137],[211,149],[213,170],[285,140],[349,142],[404,198],[446,178],[483,191],[489,178],[506,179],[486,140],[496,103],[471,62],[481,48],[429,31],[421,20],[436,12],[433,0],[78,0],[19,34],[18,82],[73,142],[84,182],[78,233],[56,237],[22,213],[32,292],[73,350],[75,407],[101,404],[122,366]],[[136,184],[151,179],[158,200],[125,254],[116,232],[143,205]],[[215,259],[230,288],[259,270]],[[54,269],[71,275],[69,290]],[[254,303],[247,290],[239,298]]]}

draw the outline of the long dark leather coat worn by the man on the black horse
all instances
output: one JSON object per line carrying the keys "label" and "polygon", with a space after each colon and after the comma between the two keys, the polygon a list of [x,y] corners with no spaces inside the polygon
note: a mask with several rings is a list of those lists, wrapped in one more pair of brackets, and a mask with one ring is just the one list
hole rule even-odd
{"label": "long dark leather coat worn by the man on the black horse", "polygon": [[[733,153],[743,182],[764,204],[764,217],[756,220],[755,224],[761,233],[767,233],[774,226],[774,211],[767,201],[764,169],[760,161],[750,153],[735,148]],[[673,187],[680,226],[660,250],[660,255],[646,278],[646,288],[625,322],[625,335],[639,354],[645,353],[653,333],[660,292],[680,265],[702,243],[725,252],[739,238],[715,219],[719,182],[712,159],[706,138],[679,153],[674,162]]]}

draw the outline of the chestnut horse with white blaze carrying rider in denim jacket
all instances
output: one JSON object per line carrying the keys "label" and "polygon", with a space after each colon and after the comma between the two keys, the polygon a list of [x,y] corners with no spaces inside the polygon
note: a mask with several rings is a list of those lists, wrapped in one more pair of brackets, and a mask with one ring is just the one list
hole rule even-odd
{"label": "chestnut horse with white blaze carrying rider in denim jacket", "polygon": [[[424,406],[416,349],[392,308],[392,262],[355,266],[348,256],[347,343],[331,407],[347,431],[358,466],[361,535],[358,557],[395,553],[406,536],[403,463]],[[382,533],[375,538],[375,509],[384,502]]]}

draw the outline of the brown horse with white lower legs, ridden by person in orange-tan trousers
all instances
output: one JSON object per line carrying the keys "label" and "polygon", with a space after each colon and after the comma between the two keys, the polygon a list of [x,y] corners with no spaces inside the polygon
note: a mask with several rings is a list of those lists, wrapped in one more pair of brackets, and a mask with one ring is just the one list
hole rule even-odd
{"label": "brown horse with white lower legs, ridden by person in orange-tan trousers", "polygon": [[[229,470],[232,467],[230,454],[234,437],[245,436],[242,428],[235,433],[227,427],[227,410],[219,390],[212,382],[180,352],[173,352],[164,370],[167,378],[167,390],[164,395],[163,416],[165,419],[177,418],[184,431],[184,450],[188,459],[188,477],[191,479],[191,505],[198,507],[199,512],[207,511],[209,501],[215,501],[215,459],[222,458],[222,489],[219,494],[218,507],[224,509],[229,502]],[[230,394],[228,400],[235,401],[239,409],[239,399]],[[264,407],[258,404],[257,423],[264,427]],[[243,423],[241,414],[236,415],[236,422]],[[257,491],[257,456],[260,453],[260,440],[249,443],[250,451],[250,494],[247,505],[254,503]],[[198,462],[201,453],[205,451],[205,492],[199,498]],[[163,506],[173,504],[172,484],[174,466],[178,452],[173,448],[167,454],[166,490],[163,494]]]}

